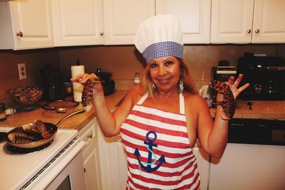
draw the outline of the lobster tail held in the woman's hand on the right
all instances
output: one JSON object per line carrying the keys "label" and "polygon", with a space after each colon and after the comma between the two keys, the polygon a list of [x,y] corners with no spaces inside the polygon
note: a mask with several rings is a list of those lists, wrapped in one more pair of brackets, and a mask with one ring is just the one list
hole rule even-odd
{"label": "lobster tail held in the woman's hand on the right", "polygon": [[[237,102],[234,100],[234,95],[232,94],[232,90],[229,88],[229,85],[218,80],[213,80],[209,86],[210,88],[217,90],[218,93],[222,93],[224,95],[222,102],[217,102],[217,105],[222,106],[224,115],[226,115],[229,119],[234,117]],[[222,119],[224,120],[224,118]]]}

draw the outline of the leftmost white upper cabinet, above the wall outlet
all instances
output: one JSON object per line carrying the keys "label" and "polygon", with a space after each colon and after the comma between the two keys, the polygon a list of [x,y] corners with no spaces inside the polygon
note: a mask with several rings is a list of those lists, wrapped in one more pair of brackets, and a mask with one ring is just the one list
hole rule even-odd
{"label": "leftmost white upper cabinet, above the wall outlet", "polygon": [[0,2],[0,18],[1,49],[53,47],[51,1]]}

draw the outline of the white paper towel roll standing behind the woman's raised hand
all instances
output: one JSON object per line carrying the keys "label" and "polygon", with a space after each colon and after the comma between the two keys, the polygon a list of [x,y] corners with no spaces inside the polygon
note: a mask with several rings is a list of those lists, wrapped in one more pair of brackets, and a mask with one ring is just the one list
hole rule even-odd
{"label": "white paper towel roll standing behind the woman's raised hand", "polygon": [[[84,65],[71,66],[71,77],[76,78],[78,74],[84,74]],[[81,102],[83,85],[80,83],[72,83],[73,85],[73,99],[75,102]]]}

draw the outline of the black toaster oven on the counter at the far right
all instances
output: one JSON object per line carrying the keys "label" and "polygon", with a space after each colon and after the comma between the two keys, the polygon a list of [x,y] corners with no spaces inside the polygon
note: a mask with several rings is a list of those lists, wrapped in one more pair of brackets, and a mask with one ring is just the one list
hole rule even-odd
{"label": "black toaster oven on the counter at the far right", "polygon": [[250,83],[250,86],[239,95],[239,99],[285,99],[285,61],[283,58],[244,53],[244,56],[237,62],[237,74],[240,73],[244,75],[240,85]]}

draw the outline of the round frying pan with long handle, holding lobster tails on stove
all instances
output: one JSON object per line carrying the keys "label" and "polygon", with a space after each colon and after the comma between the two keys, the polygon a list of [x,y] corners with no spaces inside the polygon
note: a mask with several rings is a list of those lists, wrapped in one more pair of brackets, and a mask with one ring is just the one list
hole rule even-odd
{"label": "round frying pan with long handle, holding lobster tails on stove", "polygon": [[[34,141],[34,142],[23,143],[23,144],[11,142],[9,140],[9,138],[7,138],[7,136],[11,132],[21,132],[21,131],[23,131],[23,127],[20,126],[20,127],[15,127],[13,130],[10,130],[9,132],[7,132],[7,134],[6,134],[6,142],[8,142],[9,144],[11,144],[14,147],[24,148],[24,149],[31,149],[31,148],[41,147],[44,144],[47,144],[48,142],[53,141],[53,139],[56,137],[56,132],[58,130],[58,125],[60,125],[61,122],[66,120],[68,117],[71,117],[71,116],[76,115],[76,114],[81,113],[81,112],[85,112],[85,110],[82,109],[82,110],[76,110],[74,112],[71,112],[70,114],[66,115],[66,117],[63,117],[58,123],[56,123],[56,125],[54,125],[53,123],[50,123],[50,122],[44,122],[44,124],[46,125],[48,131],[52,134],[51,137],[49,137],[47,139],[40,139],[40,140],[37,140],[37,141]],[[33,125],[33,123],[28,123],[26,125]]]}

